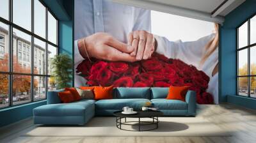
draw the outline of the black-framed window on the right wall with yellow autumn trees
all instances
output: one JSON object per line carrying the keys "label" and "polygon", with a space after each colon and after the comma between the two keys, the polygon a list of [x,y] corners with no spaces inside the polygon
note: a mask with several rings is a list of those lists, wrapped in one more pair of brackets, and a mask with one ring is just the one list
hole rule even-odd
{"label": "black-framed window on the right wall with yellow autumn trees", "polygon": [[256,98],[256,15],[237,28],[237,94]]}

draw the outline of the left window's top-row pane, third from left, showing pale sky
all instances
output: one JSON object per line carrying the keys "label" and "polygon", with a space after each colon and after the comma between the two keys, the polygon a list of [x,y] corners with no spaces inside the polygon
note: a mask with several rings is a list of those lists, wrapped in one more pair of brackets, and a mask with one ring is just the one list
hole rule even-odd
{"label": "left window's top-row pane, third from left, showing pale sky", "polygon": [[38,0],[34,0],[34,33],[45,38],[46,8]]}

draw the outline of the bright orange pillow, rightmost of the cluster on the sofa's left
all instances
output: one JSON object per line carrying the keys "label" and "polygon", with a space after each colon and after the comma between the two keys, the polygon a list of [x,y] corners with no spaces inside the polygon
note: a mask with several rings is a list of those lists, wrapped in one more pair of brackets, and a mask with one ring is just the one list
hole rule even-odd
{"label": "bright orange pillow, rightmost of the cluster on the sofa's left", "polygon": [[109,87],[95,86],[94,87],[95,100],[112,99],[113,98],[112,93],[113,93],[113,86],[109,86]]}

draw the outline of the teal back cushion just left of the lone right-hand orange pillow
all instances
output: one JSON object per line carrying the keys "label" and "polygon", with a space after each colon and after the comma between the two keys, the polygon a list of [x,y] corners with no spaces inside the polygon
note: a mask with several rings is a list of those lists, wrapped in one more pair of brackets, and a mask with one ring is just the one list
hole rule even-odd
{"label": "teal back cushion just left of the lone right-hand orange pillow", "polygon": [[166,98],[169,87],[151,87],[151,99]]}

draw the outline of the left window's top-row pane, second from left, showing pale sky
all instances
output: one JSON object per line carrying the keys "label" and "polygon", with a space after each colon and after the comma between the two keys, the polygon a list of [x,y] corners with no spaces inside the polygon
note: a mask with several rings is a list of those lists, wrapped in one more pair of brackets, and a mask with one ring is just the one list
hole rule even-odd
{"label": "left window's top-row pane, second from left, showing pale sky", "polygon": [[31,31],[31,0],[13,0],[13,23]]}

